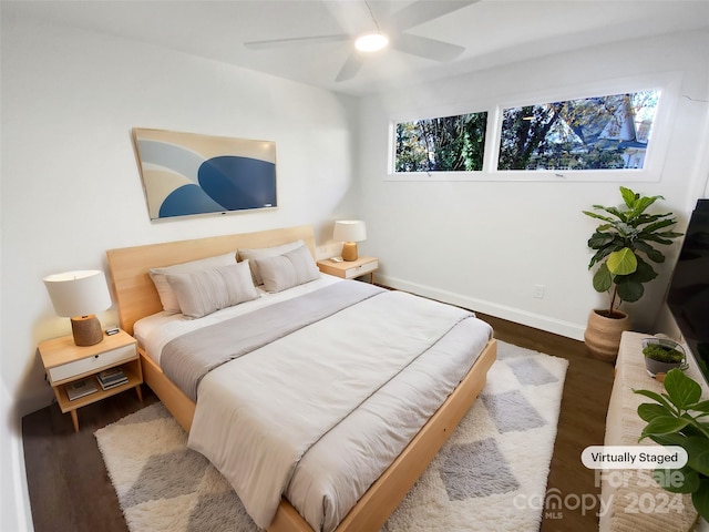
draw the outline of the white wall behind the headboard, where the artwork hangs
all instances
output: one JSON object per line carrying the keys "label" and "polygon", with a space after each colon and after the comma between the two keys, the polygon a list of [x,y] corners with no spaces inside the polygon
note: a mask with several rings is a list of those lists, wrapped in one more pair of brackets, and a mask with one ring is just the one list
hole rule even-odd
{"label": "white wall behind the headboard, where the artwork hangs", "polygon": [[[29,512],[10,485],[23,467],[18,416],[52,398],[37,344],[70,332],[42,277],[105,269],[109,248],[206,235],[315,224],[326,243],[332,219],[354,214],[350,108],[330,92],[3,11],[0,529],[22,528],[16,505]],[[275,141],[278,208],[151,223],[135,126]],[[100,318],[117,321],[115,309]]]}

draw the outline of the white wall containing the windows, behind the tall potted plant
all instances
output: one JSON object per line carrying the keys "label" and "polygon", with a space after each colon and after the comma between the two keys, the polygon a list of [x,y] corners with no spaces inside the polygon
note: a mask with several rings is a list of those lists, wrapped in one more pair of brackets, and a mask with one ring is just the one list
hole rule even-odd
{"label": "white wall containing the windows, behind the tall potted plant", "polygon": [[[421,110],[481,111],[524,94],[558,94],[565,86],[655,73],[681,79],[671,136],[659,182],[627,184],[666,197],[686,213],[700,196],[709,163],[709,33],[661,35],[646,41],[559,53],[444,82],[424,83],[361,102],[360,215],[368,224],[362,248],[381,260],[380,279],[392,286],[460,304],[513,321],[583,339],[592,308],[605,295],[592,287],[586,242],[596,223],[582,209],[621,203],[618,182],[387,181],[392,117]],[[465,112],[465,111],[459,111]],[[423,114],[419,116],[435,116]],[[445,114],[438,114],[439,116]],[[415,116],[412,116],[415,117]],[[407,120],[412,120],[409,117]],[[490,134],[490,132],[489,132]],[[651,328],[661,306],[677,246],[646,297],[628,305],[634,326]],[[533,297],[544,285],[543,299]]]}

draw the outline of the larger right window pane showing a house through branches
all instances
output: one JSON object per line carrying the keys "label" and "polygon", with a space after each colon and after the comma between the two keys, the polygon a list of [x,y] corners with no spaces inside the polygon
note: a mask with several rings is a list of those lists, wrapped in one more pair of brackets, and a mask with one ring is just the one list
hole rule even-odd
{"label": "larger right window pane showing a house through branches", "polygon": [[643,168],[659,95],[644,91],[505,109],[497,170]]}

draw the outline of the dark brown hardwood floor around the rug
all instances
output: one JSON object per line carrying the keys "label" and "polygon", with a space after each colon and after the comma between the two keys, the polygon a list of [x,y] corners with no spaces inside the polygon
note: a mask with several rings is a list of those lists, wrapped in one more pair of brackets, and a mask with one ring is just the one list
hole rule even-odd
{"label": "dark brown hardwood floor around the rug", "polygon": [[[586,446],[603,443],[613,366],[589,358],[583,342],[479,316],[494,327],[495,336],[503,341],[569,360],[547,484],[547,493],[557,493],[566,504],[544,511],[541,531],[598,530],[597,508],[584,511],[572,507],[584,497],[587,501],[595,497],[597,501],[599,488],[595,485],[594,472],[580,463],[580,452]],[[93,433],[157,401],[146,387],[143,396],[143,403],[136,393],[127,391],[82,408],[79,432],[73,431],[70,416],[62,415],[56,405],[23,418],[24,460],[35,532],[127,531]],[[520,452],[524,452],[524,442]],[[536,504],[543,505],[544,501]],[[474,523],[471,530],[475,530]]]}

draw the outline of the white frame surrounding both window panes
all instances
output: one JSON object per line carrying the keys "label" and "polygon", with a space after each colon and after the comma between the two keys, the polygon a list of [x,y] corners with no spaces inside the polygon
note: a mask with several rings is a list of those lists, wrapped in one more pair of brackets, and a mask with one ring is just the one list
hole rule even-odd
{"label": "white frame surrounding both window panes", "polygon": [[[579,182],[579,183],[640,183],[659,182],[669,149],[671,126],[680,98],[681,72],[635,75],[624,79],[604,80],[584,85],[567,85],[548,91],[535,91],[511,94],[504,99],[486,103],[469,102],[465,105],[440,106],[425,113],[400,113],[389,120],[388,167],[384,181],[492,181],[492,182]],[[648,152],[643,168],[603,168],[603,170],[497,170],[502,134],[503,112],[505,109],[541,103],[594,98],[639,91],[659,91]],[[458,172],[394,172],[397,124],[435,116],[451,116],[487,112],[483,166],[480,171]],[[422,114],[424,114],[422,116]]]}

